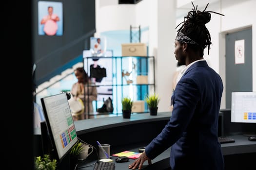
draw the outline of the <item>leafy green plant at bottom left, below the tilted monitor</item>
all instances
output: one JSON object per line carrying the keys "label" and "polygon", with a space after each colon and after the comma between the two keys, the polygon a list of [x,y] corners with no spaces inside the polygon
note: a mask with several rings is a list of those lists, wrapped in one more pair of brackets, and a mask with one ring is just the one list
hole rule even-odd
{"label": "leafy green plant at bottom left, below the tilted monitor", "polygon": [[56,170],[57,160],[50,159],[49,154],[44,154],[43,157],[37,156],[35,159],[35,170]]}

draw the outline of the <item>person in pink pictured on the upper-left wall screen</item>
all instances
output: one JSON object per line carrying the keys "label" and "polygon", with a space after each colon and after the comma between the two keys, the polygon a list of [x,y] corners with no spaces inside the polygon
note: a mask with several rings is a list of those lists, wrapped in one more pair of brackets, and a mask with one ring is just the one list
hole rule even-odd
{"label": "person in pink pictured on the upper-left wall screen", "polygon": [[59,17],[57,14],[53,14],[53,7],[48,6],[48,15],[44,16],[40,24],[44,24],[43,31],[46,35],[55,35],[58,30]]}

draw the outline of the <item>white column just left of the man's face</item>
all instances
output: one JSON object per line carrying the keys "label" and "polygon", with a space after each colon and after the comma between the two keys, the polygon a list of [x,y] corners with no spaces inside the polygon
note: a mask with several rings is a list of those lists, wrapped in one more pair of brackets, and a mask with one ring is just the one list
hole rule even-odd
{"label": "white column just left of the man's face", "polygon": [[176,0],[158,0],[157,11],[156,93],[160,97],[158,111],[165,112],[171,110],[172,79],[177,62],[174,55]]}

